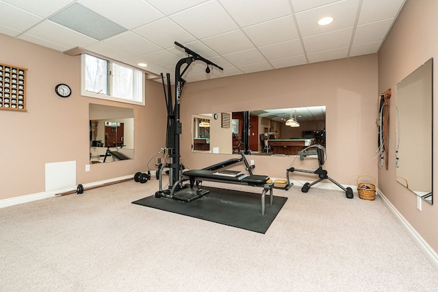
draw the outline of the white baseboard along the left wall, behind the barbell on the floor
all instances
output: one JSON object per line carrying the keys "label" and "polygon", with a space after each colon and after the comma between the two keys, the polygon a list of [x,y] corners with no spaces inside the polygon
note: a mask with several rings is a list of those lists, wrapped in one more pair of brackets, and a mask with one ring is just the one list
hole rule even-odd
{"label": "white baseboard along the left wall, behind the barbell on the floor", "polygon": [[[127,178],[133,178],[133,175],[120,176],[117,178],[110,178],[110,179],[107,179],[105,181],[96,181],[94,183],[86,183],[86,184],[83,184],[83,188],[85,190],[87,190],[87,187],[95,187],[97,185],[105,185],[105,183],[113,183],[115,181],[121,181],[121,180],[127,179]],[[36,193],[36,194],[29,194],[29,195],[25,195],[25,196],[3,199],[3,200],[0,200],[0,209],[5,208],[5,207],[14,206],[16,204],[24,204],[27,202],[34,202],[36,200],[51,198],[51,197],[54,197],[56,195],[66,193],[68,191],[75,191],[75,190],[76,190],[76,187],[74,187],[74,188],[65,187],[62,189],[54,189],[51,191],[42,191],[42,192]]]}

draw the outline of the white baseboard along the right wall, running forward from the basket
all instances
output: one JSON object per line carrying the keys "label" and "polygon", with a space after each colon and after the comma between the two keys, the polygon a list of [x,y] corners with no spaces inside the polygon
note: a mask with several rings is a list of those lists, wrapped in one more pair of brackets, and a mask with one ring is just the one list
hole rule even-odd
{"label": "white baseboard along the right wall, running forward from the basket", "polygon": [[402,223],[402,226],[407,230],[415,244],[418,246],[418,248],[420,248],[422,254],[426,256],[427,260],[430,262],[433,268],[438,271],[438,254],[430,247],[430,245],[428,245],[424,238],[417,233],[417,230],[415,230],[415,228],[413,228],[413,226],[409,224],[409,222],[407,222],[403,215],[398,212],[396,207],[394,207],[394,205],[389,202],[389,200],[379,189],[377,189],[377,194],[381,196],[389,211],[396,215],[398,220]]}

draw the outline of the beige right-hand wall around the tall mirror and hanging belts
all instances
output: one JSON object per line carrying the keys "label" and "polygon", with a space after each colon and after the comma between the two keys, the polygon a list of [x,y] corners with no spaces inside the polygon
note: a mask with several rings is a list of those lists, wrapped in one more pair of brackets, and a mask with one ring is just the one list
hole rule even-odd
{"label": "beige right-hand wall around the tall mirror and hanging belts", "polygon": [[[438,59],[437,11],[438,1],[407,0],[378,53],[378,89],[380,92],[384,92],[391,88],[393,92],[389,108],[389,170],[378,171],[378,187],[435,252],[438,252],[438,233],[436,231],[436,222],[438,222],[437,197],[435,196],[435,204],[430,205],[423,202],[422,211],[418,211],[416,196],[396,183],[394,159],[396,149],[396,84],[430,57],[435,58],[435,62]],[[437,74],[433,74],[434,85],[438,84],[437,76]],[[434,99],[435,96],[436,90],[434,91]],[[438,103],[434,103],[433,107],[433,116],[436,117]],[[438,129],[438,120],[436,118],[433,127]],[[438,144],[435,142],[435,137],[433,140],[433,152],[436,152]],[[435,165],[433,181],[435,182],[438,181],[437,161],[437,155],[433,155],[433,164]]]}

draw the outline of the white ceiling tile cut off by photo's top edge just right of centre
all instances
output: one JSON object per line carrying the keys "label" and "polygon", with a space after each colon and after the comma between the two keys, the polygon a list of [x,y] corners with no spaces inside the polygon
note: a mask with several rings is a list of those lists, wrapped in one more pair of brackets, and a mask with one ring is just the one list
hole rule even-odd
{"label": "white ceiling tile cut off by photo's top edge just right of centre", "polygon": [[240,27],[291,14],[289,0],[219,0]]}

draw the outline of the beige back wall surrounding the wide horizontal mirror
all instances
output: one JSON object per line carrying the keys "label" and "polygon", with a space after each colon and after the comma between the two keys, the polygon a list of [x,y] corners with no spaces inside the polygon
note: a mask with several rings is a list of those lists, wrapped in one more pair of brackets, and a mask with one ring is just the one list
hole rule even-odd
{"label": "beige back wall surrounding the wide horizontal mirror", "polygon": [[[326,105],[324,168],[339,183],[356,185],[359,174],[377,175],[377,96],[376,55],[188,83],[181,96],[181,161],[194,169],[233,157],[190,151],[192,114]],[[255,161],[255,174],[274,178],[285,178],[293,160],[256,155],[248,159]],[[305,169],[318,167],[315,160],[306,163]],[[302,164],[296,161],[294,167]],[[294,178],[315,181],[317,176],[295,173]]]}

